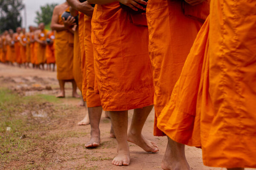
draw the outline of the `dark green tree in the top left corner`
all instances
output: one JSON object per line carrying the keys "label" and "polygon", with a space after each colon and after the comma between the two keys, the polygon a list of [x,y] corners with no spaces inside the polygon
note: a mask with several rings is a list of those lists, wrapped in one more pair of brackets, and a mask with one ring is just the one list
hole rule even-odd
{"label": "dark green tree in the top left corner", "polygon": [[23,0],[0,0],[0,32],[21,26],[23,8]]}

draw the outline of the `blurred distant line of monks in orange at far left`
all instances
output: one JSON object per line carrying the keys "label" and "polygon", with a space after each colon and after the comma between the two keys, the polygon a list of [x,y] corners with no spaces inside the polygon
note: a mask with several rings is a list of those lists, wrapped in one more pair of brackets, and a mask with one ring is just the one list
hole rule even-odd
{"label": "blurred distant line of monks in orange at far left", "polygon": [[33,68],[40,69],[47,64],[47,70],[54,71],[55,33],[44,27],[44,23],[40,23],[38,28],[29,26],[29,32],[20,27],[15,33],[12,29],[4,31],[0,36],[0,62],[10,65],[16,62],[26,68],[32,63]]}

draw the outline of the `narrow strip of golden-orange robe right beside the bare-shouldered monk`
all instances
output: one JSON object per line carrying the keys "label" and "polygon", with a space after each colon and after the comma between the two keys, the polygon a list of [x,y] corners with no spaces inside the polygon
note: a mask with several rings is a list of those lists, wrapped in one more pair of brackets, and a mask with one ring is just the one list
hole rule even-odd
{"label": "narrow strip of golden-orange robe right beside the bare-shouldered monk", "polygon": [[76,31],[74,33],[73,75],[77,87],[82,91],[83,77],[81,69],[81,50],[79,45],[79,25],[76,27]]}

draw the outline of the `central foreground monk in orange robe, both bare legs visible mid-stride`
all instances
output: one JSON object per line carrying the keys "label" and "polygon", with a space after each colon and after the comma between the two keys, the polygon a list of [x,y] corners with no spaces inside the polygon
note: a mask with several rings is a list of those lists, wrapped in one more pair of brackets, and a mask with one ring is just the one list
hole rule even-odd
{"label": "central foreground monk in orange robe, both bare legs visible mid-stride", "polygon": [[[137,1],[146,4],[143,0]],[[147,152],[158,151],[157,145],[141,133],[153,108],[154,97],[146,18],[142,14],[128,13],[116,0],[88,2],[99,4],[92,18],[92,42],[102,107],[110,111],[118,142],[118,155],[112,164],[127,166],[131,159],[127,141]],[[134,115],[127,134],[130,109],[134,109]]]}

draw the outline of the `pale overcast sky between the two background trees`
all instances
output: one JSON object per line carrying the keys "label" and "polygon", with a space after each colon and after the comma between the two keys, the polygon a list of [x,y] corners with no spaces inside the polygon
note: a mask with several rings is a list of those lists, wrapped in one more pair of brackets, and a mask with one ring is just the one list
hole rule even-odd
{"label": "pale overcast sky between the two background trees", "polygon": [[[40,9],[40,6],[44,6],[47,3],[63,3],[64,1],[65,0],[23,0],[23,3],[26,5],[27,26],[36,25],[34,23],[35,12]],[[24,27],[24,11],[22,11],[21,14],[23,17],[22,26]]]}

